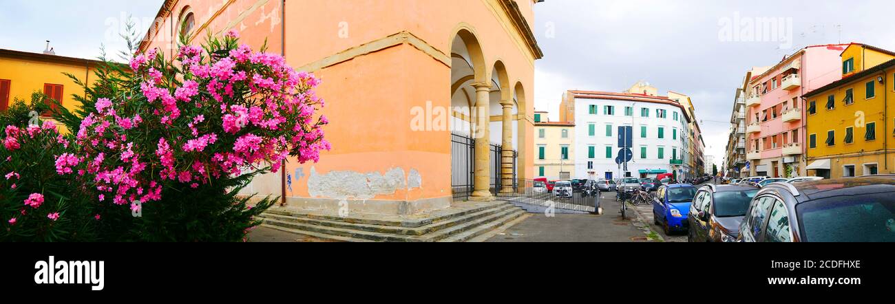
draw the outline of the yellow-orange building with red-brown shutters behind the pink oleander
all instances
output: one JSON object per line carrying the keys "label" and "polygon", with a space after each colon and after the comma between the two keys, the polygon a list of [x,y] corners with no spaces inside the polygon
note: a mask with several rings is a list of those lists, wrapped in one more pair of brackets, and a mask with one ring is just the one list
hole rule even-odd
{"label": "yellow-orange building with red-brown shutters behind the pink oleander", "polygon": [[64,72],[92,85],[99,61],[0,49],[0,111],[16,98],[30,102],[31,93],[41,92],[59,100],[65,108],[80,106],[72,95],[84,96],[84,89]]}

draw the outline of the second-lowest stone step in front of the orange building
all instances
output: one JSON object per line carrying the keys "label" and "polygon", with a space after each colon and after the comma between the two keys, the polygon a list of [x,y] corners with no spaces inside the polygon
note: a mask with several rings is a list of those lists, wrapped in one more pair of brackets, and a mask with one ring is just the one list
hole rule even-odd
{"label": "second-lowest stone step in front of the orange building", "polygon": [[[334,221],[334,220],[325,220],[318,218],[307,218],[301,216],[289,216],[289,215],[276,215],[276,214],[261,214],[262,218],[269,218],[281,222],[292,222],[299,224],[312,224],[318,226],[326,226],[333,228],[345,228],[345,229],[354,229],[362,232],[381,232],[381,233],[392,233],[392,234],[401,234],[401,235],[424,235],[431,232],[437,232],[439,230],[455,226],[457,224],[463,224],[469,221],[473,221],[477,218],[481,218],[482,216],[493,215],[500,211],[506,210],[508,208],[512,208],[513,205],[510,204],[495,204],[491,207],[485,208],[482,211],[475,212],[467,215],[459,215],[456,217],[446,218],[440,221],[437,221],[433,224],[428,224],[421,227],[403,227],[403,226],[393,226],[393,225],[379,225],[379,224],[355,224],[355,223],[346,223],[343,221]],[[476,208],[478,210],[480,208]]]}

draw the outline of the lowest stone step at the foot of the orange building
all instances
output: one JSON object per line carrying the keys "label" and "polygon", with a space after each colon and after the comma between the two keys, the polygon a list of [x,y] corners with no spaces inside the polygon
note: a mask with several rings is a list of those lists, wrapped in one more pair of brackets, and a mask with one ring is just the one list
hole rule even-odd
{"label": "lowest stone step at the foot of the orange building", "polygon": [[[517,207],[508,207],[502,208],[501,211],[497,213],[492,213],[489,215],[482,216],[473,216],[470,220],[464,221],[460,224],[449,225],[444,229],[440,229],[435,232],[430,232],[424,235],[402,235],[388,232],[369,232],[356,230],[352,228],[340,228],[340,227],[328,227],[321,226],[315,224],[303,224],[291,221],[282,221],[272,218],[265,218],[264,224],[275,225],[279,227],[284,227],[288,229],[292,229],[297,231],[298,233],[308,234],[307,232],[313,232],[317,234],[328,234],[334,235],[341,238],[350,238],[350,239],[362,239],[368,241],[395,241],[395,242],[426,242],[426,241],[439,241],[450,237],[452,235],[462,233],[476,227],[482,226],[483,224],[489,224],[490,222],[503,219],[507,215],[513,215],[517,213],[524,213],[522,209]],[[316,235],[311,235],[316,236]]]}

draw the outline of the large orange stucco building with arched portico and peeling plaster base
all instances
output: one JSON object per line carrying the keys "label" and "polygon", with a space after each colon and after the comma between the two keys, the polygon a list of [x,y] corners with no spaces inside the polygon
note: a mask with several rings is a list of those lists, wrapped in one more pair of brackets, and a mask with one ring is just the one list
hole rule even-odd
{"label": "large orange stucco building with arched portico and peeling plaster base", "polygon": [[[323,80],[333,148],[246,191],[285,190],[289,207],[410,215],[456,197],[490,200],[506,190],[495,181],[534,177],[530,98],[542,54],[531,29],[541,1],[168,0],[141,49],[171,58],[181,30],[192,44],[227,30],[255,48],[267,41]],[[452,160],[452,132],[476,139],[474,174]],[[504,147],[497,171],[489,144]],[[471,193],[457,196],[462,185]]]}

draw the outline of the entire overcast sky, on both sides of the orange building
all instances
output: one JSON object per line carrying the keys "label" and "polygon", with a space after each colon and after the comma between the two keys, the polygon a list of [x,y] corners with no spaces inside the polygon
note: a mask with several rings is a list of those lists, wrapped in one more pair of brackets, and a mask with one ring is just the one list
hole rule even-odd
{"label": "entire overcast sky, on both sides of the orange building", "polygon": [[[56,55],[95,58],[102,45],[109,53],[124,49],[117,34],[126,16],[145,33],[162,2],[4,0],[0,48],[40,52],[51,40]],[[891,0],[548,0],[535,5],[534,31],[544,51],[536,63],[535,107],[556,120],[567,89],[621,91],[646,80],[662,94],[670,89],[693,97],[706,154],[720,164],[735,89],[747,69],[773,65],[808,45],[855,41],[895,50],[893,8]],[[737,16],[743,22],[783,18],[773,23],[783,35],[724,38],[745,30],[732,24]]]}

